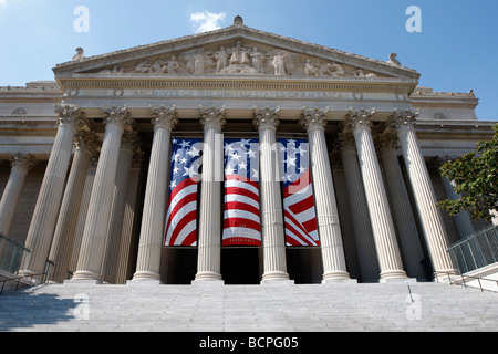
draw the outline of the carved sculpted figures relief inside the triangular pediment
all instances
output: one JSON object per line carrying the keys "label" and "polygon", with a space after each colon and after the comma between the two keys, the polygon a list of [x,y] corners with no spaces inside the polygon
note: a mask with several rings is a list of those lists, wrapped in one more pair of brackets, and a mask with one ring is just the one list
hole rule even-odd
{"label": "carved sculpted figures relief inside the triangular pediment", "polygon": [[196,48],[170,54],[154,61],[144,60],[131,67],[115,65],[101,74],[240,74],[276,76],[318,76],[318,77],[377,77],[377,74],[362,69],[318,60],[305,54],[281,49],[260,50],[256,44],[243,46],[236,41],[232,48]]}

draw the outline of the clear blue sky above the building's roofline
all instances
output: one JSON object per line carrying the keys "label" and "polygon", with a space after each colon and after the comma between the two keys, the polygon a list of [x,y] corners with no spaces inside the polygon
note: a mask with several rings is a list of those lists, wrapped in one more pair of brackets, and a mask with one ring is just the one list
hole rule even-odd
{"label": "clear blue sky above the building's roofline", "polygon": [[[87,31],[74,28],[80,6]],[[409,6],[422,11],[422,32],[406,31]],[[76,46],[104,54],[225,28],[237,14],[250,28],[377,60],[395,52],[421,85],[474,90],[479,119],[498,121],[496,0],[0,0],[0,85],[53,80]]]}

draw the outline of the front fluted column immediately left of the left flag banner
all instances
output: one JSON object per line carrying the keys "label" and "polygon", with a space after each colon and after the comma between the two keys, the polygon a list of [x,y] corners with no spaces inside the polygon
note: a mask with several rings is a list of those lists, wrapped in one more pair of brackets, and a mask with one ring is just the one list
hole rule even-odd
{"label": "front fluted column immediately left of the left flag banner", "polygon": [[160,248],[164,239],[169,144],[177,124],[175,106],[152,110],[154,137],[148,165],[147,185],[142,216],[138,258],[133,281],[148,280],[160,283]]}

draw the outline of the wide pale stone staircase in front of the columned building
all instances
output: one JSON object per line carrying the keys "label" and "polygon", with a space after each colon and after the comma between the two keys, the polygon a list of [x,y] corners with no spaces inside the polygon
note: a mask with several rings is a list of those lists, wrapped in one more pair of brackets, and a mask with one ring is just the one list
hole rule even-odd
{"label": "wide pale stone staircase in front of the columned building", "polygon": [[497,331],[498,293],[445,283],[43,284],[0,295],[0,331]]}

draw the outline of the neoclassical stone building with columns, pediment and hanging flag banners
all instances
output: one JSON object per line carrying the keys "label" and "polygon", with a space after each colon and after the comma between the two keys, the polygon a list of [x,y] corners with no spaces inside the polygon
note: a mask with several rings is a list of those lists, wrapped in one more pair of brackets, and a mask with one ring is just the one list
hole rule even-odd
{"label": "neoclassical stone building with columns, pediment and hanging flag banners", "polygon": [[[471,91],[421,87],[419,73],[397,61],[236,18],[218,31],[80,51],[53,71],[55,82],[0,87],[0,235],[29,250],[20,273],[97,283],[430,280],[456,272],[448,246],[485,226],[438,210],[457,196],[437,167],[490,138],[495,123],[477,121]],[[248,210],[230,209],[242,194],[228,176],[247,169],[237,139],[256,144],[245,150],[257,158],[246,221]],[[201,159],[187,167],[189,157]],[[293,228],[315,235],[312,244],[287,241],[302,211],[289,197],[304,192],[286,187],[292,167],[312,196],[310,219]],[[181,178],[191,181],[186,199],[175,189]],[[188,214],[174,216],[187,201]],[[187,219],[190,243],[169,243]]]}

